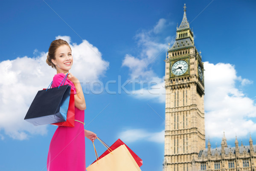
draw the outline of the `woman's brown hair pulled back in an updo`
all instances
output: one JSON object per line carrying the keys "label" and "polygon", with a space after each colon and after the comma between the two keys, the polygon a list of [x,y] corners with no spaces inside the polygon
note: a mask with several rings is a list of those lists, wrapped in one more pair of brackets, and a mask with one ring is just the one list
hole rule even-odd
{"label": "woman's brown hair pulled back in an updo", "polygon": [[70,47],[70,45],[65,40],[62,40],[62,39],[53,40],[49,47],[46,63],[52,68],[56,69],[55,64],[52,63],[52,59],[55,59],[55,52],[58,49],[58,47],[62,45],[68,45]]}

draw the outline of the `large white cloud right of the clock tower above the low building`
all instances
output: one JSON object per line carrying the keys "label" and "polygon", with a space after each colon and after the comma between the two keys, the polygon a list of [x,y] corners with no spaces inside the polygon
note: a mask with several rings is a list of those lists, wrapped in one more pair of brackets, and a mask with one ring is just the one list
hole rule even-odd
{"label": "large white cloud right of the clock tower above the low building", "polygon": [[[236,75],[231,64],[210,64],[205,67],[205,126],[210,137],[245,137],[256,132],[256,104],[236,88],[236,81],[243,80]],[[254,121],[253,121],[254,120]]]}

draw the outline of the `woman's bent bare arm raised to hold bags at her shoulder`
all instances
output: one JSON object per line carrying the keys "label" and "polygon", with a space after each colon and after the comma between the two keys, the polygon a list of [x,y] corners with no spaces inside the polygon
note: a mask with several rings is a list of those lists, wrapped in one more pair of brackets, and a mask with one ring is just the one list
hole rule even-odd
{"label": "woman's bent bare arm raised to hold bags at her shoulder", "polygon": [[[67,73],[65,73],[67,74]],[[77,107],[80,110],[85,110],[86,109],[86,104],[85,104],[85,100],[84,100],[84,93],[81,87],[81,84],[79,82],[79,80],[73,76],[72,73],[68,73],[67,78],[73,82],[73,84],[76,87],[76,94],[74,95],[75,97],[75,107]]]}

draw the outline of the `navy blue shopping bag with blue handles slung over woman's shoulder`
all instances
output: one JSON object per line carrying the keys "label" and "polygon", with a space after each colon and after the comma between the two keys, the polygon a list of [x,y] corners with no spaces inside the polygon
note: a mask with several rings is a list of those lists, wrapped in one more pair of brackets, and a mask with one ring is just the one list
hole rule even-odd
{"label": "navy blue shopping bag with blue handles slung over woman's shoulder", "polygon": [[66,121],[71,86],[61,84],[59,87],[48,89],[49,86],[46,90],[39,90],[24,120],[35,126]]}

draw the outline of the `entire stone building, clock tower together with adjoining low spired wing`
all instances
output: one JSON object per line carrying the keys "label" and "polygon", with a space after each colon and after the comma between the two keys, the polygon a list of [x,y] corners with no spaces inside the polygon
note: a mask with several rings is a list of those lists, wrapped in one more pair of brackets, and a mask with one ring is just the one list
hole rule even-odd
{"label": "entire stone building, clock tower together with adjoining low spired wing", "polygon": [[[255,171],[256,146],[205,150],[204,63],[194,45],[186,18],[176,31],[176,40],[166,54],[166,123],[164,171]],[[236,140],[237,141],[237,140]],[[234,167],[233,167],[234,166]]]}

